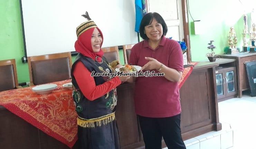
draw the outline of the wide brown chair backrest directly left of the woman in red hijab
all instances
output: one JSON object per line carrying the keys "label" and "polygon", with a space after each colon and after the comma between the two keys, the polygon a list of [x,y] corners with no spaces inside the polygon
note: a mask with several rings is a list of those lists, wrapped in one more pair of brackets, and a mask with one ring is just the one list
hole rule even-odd
{"label": "wide brown chair backrest directly left of the woman in red hijab", "polygon": [[32,85],[71,78],[71,53],[57,53],[28,57],[29,78]]}

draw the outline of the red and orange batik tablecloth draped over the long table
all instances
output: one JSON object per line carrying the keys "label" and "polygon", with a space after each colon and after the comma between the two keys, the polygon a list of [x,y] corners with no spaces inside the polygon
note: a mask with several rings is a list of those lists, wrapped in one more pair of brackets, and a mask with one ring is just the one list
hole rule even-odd
{"label": "red and orange batik tablecloth draped over the long table", "polygon": [[[184,68],[179,88],[192,69]],[[0,92],[0,105],[72,148],[77,140],[77,114],[72,91],[62,87],[68,82],[71,80],[53,82],[58,88],[50,94],[37,94],[31,90],[32,87]]]}

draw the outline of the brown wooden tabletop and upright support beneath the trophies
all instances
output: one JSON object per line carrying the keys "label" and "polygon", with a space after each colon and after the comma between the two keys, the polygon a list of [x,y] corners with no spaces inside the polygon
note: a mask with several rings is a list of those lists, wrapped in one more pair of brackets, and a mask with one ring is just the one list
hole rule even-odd
{"label": "brown wooden tabletop and upright support beneath the trophies", "polygon": [[232,55],[219,55],[221,58],[236,59],[237,81],[238,81],[238,97],[242,98],[242,91],[250,89],[247,77],[245,62],[256,60],[256,53],[237,53]]}

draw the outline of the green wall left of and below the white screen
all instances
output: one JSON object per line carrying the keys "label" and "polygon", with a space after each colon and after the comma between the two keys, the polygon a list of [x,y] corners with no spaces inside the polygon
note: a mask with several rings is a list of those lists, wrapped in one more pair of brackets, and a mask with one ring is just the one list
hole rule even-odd
{"label": "green wall left of and below the white screen", "polygon": [[[24,46],[19,0],[0,0],[0,60],[15,59],[18,82],[29,82],[28,64],[22,64]],[[124,64],[123,51],[119,51]],[[72,61],[75,57],[72,57]]]}

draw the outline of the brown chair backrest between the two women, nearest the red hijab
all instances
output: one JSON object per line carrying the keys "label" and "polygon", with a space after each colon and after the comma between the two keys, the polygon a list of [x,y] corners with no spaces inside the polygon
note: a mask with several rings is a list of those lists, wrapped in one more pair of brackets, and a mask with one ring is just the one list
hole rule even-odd
{"label": "brown chair backrest between the two women, nearest the red hijab", "polygon": [[105,47],[102,48],[102,50],[104,52],[103,56],[106,57],[109,63],[111,63],[114,60],[120,61],[118,46]]}

